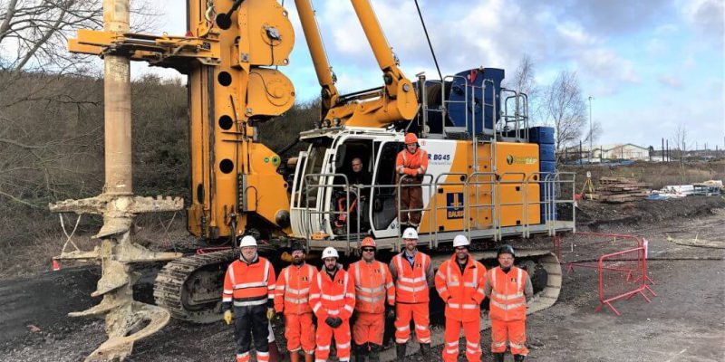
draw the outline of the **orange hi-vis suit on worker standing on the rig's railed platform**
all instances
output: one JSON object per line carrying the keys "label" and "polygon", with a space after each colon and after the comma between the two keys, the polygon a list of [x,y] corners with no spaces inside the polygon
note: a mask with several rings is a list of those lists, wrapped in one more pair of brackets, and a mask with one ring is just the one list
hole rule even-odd
{"label": "orange hi-vis suit on worker standing on the rig's railed platform", "polygon": [[[408,149],[403,149],[398,153],[398,157],[395,160],[396,174],[401,177],[401,174],[407,175],[403,179],[403,182],[409,184],[420,184],[422,182],[422,174],[425,174],[428,170],[428,152],[423,149],[416,149],[415,153],[408,152]],[[397,182],[397,181],[396,181]],[[408,223],[408,214],[411,214],[411,224],[418,226],[420,224],[419,211],[405,211],[410,209],[421,209],[423,208],[423,188],[421,186],[401,186],[401,213],[400,220],[401,224]]]}

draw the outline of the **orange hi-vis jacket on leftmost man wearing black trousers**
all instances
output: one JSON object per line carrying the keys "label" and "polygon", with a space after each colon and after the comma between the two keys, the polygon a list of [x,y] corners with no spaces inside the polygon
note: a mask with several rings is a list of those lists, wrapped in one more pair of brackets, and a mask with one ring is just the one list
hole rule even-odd
{"label": "orange hi-vis jacket on leftmost man wearing black trousers", "polygon": [[253,262],[236,260],[227,267],[222,309],[263,305],[275,298],[275,269],[262,257]]}

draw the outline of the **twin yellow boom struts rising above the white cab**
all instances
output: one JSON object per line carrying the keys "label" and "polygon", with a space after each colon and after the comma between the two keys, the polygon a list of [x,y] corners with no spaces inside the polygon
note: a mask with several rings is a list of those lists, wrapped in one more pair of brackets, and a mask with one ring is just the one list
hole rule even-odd
{"label": "twin yellow boom struts rising above the white cab", "polygon": [[411,81],[398,68],[370,2],[352,0],[352,3],[382,71],[384,86],[344,96],[334,86],[312,5],[309,0],[295,0],[314,70],[323,87],[322,118],[331,125],[359,127],[385,127],[395,121],[412,119],[418,111],[418,100]]}

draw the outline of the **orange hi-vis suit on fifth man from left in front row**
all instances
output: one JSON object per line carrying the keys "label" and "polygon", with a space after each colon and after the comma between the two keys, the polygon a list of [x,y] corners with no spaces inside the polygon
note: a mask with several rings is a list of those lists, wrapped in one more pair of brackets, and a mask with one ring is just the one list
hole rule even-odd
{"label": "orange hi-vis suit on fifth man from left in front row", "polygon": [[395,343],[406,343],[411,338],[411,319],[415,322],[418,342],[430,343],[428,292],[433,281],[433,266],[430,256],[422,252],[415,252],[412,263],[405,253],[393,256],[390,264],[395,281]]}

